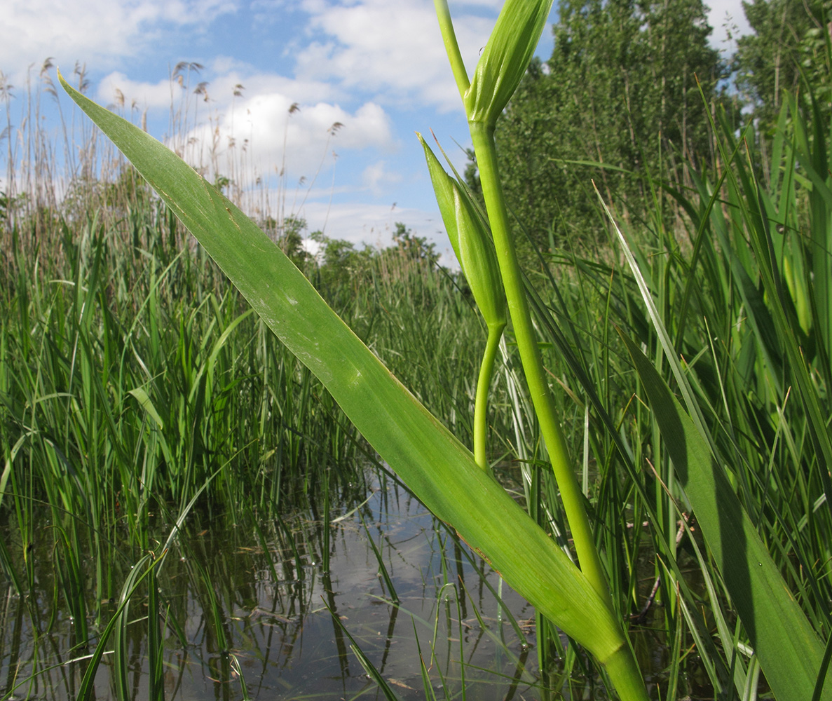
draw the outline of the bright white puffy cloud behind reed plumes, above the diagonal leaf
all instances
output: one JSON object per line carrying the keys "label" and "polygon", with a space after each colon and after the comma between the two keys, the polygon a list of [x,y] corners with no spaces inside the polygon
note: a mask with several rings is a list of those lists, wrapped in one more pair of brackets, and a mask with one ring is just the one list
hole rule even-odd
{"label": "bright white puffy cloud behind reed plumes, above the diagonal leaf", "polygon": [[[228,72],[216,75],[217,69]],[[203,79],[204,91],[195,95]],[[156,132],[164,119],[169,145],[209,175],[245,167],[249,176],[270,177],[285,169],[290,181],[301,176],[311,181],[332,166],[337,152],[398,147],[383,107],[368,101],[345,109],[333,99],[341,94],[326,82],[253,72],[226,57],[186,75],[182,85],[171,79],[134,81],[112,72],[97,89],[98,100],[107,105],[119,104],[123,96],[125,112],[148,110],[152,120],[155,111]],[[172,124],[165,118],[168,112],[176,116]]]}

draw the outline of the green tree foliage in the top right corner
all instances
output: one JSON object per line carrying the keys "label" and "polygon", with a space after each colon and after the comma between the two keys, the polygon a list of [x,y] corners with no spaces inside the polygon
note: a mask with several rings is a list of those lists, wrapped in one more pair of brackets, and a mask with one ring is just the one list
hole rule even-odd
{"label": "green tree foliage in the top right corner", "polygon": [[754,33],[740,37],[735,56],[736,82],[754,108],[761,132],[772,132],[784,92],[810,82],[830,113],[830,0],[752,0],[743,2]]}

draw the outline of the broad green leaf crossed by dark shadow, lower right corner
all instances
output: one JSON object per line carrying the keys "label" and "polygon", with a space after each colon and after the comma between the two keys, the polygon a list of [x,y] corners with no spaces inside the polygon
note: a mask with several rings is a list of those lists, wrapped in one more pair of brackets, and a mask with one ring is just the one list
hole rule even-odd
{"label": "broad green leaf crossed by dark shadow, lower right corner", "polygon": [[[780,576],[707,441],[661,375],[623,334],[653,417],[760,666],[780,701],[811,699],[824,648]],[[832,699],[826,684],[820,699]]]}

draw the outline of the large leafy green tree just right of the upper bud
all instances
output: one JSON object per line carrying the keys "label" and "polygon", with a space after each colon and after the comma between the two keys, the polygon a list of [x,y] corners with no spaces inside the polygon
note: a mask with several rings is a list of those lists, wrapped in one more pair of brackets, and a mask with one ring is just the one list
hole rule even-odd
{"label": "large leafy green tree just right of the upper bud", "polygon": [[497,127],[509,206],[542,246],[597,236],[592,178],[640,217],[646,173],[681,181],[682,159],[708,158],[696,78],[711,98],[726,76],[701,0],[561,0],[559,17]]}

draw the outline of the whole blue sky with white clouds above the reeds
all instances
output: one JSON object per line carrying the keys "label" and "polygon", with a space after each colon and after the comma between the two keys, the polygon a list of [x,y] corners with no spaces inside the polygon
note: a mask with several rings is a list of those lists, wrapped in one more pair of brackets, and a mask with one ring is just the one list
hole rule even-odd
{"label": "whole blue sky with white clouds above the reeds", "polygon": [[[449,4],[470,72],[502,2]],[[747,27],[740,0],[711,5],[713,43],[730,50],[722,26],[727,14]],[[70,82],[86,66],[90,97],[146,120],[193,165],[269,183],[270,211],[310,231],[377,244],[404,221],[442,241],[414,132],[433,129],[458,165],[468,136],[430,0],[5,0],[0,71],[14,97],[0,129],[22,122],[47,57]]]}

